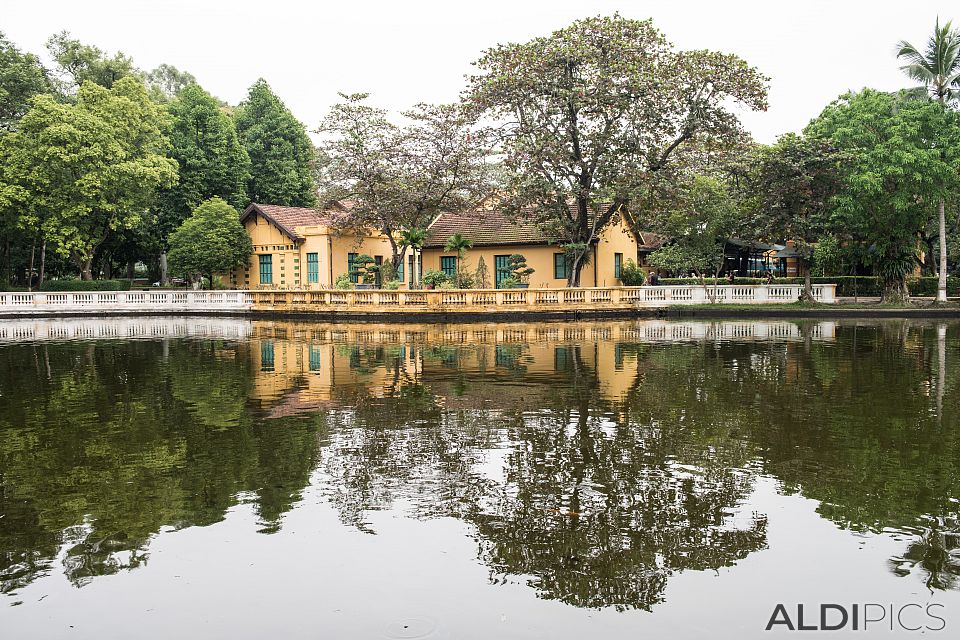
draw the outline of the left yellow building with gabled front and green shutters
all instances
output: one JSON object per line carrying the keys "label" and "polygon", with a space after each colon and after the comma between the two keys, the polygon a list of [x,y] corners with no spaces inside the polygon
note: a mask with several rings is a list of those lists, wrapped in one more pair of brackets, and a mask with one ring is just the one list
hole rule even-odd
{"label": "left yellow building with gabled front and green shutters", "polygon": [[244,289],[329,288],[350,272],[359,254],[373,256],[378,264],[389,260],[390,241],[382,234],[354,235],[334,228],[336,217],[349,206],[337,202],[319,210],[251,204],[240,222],[253,241],[253,255],[246,269],[228,276],[229,284]]}

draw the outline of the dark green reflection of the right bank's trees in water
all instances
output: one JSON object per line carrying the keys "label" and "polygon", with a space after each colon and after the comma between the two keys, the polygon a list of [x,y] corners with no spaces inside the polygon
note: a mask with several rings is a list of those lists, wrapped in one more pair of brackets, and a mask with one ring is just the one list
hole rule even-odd
{"label": "dark green reflection of the right bank's trees in water", "polygon": [[938,380],[938,351],[934,325],[908,322],[842,326],[832,343],[661,347],[631,417],[712,431],[716,455],[740,442],[838,526],[913,536],[895,573],[956,588],[960,415],[937,405],[960,406],[960,369]]}

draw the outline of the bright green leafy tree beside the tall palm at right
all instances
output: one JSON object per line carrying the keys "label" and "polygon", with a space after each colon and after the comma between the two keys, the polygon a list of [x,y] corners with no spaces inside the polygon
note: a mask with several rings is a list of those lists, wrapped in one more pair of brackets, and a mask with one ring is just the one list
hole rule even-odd
{"label": "bright green leafy tree beside the tall palm at right", "polygon": [[960,188],[958,115],[940,102],[864,89],[835,100],[804,132],[844,154],[834,224],[868,248],[884,301],[907,299],[930,207]]}

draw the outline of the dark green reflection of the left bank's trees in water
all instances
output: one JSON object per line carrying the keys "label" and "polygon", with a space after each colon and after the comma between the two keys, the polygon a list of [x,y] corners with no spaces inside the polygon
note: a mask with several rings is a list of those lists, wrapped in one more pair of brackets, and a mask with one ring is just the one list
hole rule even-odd
{"label": "dark green reflection of the left bank's trees in water", "polygon": [[[219,522],[252,492],[264,531],[315,466],[316,420],[254,421],[244,345],[100,342],[0,359],[0,591],[64,550],[76,584],[135,568],[162,527]],[[37,375],[19,367],[40,351]]]}

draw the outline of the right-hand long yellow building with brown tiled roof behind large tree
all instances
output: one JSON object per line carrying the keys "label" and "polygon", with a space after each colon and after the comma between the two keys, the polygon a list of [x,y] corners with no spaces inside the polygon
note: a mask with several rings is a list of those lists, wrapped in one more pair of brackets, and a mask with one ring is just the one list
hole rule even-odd
{"label": "right-hand long yellow building with brown tiled roof behind large tree", "polygon": [[[452,276],[457,267],[457,255],[444,251],[450,236],[459,233],[473,242],[467,252],[465,269],[474,272],[483,258],[489,274],[488,286],[500,288],[506,274],[501,271],[512,254],[526,258],[534,269],[530,276],[531,289],[567,286],[569,265],[556,238],[533,223],[517,221],[492,210],[464,214],[444,213],[428,228],[423,249],[423,272],[435,270]],[[618,286],[620,268],[627,260],[644,265],[644,256],[655,249],[657,241],[635,235],[623,217],[615,215],[594,241],[588,264],[580,275],[583,287]]]}

